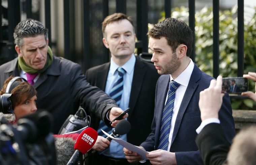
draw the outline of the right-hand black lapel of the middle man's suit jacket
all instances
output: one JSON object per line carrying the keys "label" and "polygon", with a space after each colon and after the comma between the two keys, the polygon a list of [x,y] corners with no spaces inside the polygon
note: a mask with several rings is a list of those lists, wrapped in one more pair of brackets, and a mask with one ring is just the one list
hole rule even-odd
{"label": "right-hand black lapel of the middle man's suit jacket", "polygon": [[129,100],[130,111],[128,112],[129,114],[128,119],[130,118],[133,112],[133,109],[135,107],[135,103],[137,102],[139,92],[142,86],[143,78],[146,73],[146,70],[143,69],[143,67],[145,67],[143,62],[141,62],[139,59],[136,58],[135,65],[134,65],[133,78],[132,78],[130,100]]}

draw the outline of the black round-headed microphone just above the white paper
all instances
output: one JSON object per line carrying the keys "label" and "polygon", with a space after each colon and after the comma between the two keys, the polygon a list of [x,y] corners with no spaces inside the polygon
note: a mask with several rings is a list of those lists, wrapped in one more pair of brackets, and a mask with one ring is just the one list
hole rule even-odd
{"label": "black round-headed microphone just above the white paper", "polygon": [[[129,121],[123,119],[123,120],[120,120],[115,129],[112,131],[112,133],[110,134],[111,136],[114,136],[114,137],[119,137],[120,135],[123,135],[123,134],[126,134],[130,131],[131,129],[131,124]],[[107,136],[106,138],[108,141],[111,141],[111,137]]]}

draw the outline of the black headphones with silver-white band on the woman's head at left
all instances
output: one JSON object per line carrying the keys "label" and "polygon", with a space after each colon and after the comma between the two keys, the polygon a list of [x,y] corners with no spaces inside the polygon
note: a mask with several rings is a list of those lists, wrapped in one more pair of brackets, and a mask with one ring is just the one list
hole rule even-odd
{"label": "black headphones with silver-white band on the woman's head at left", "polygon": [[16,81],[17,79],[22,79],[25,82],[27,82],[27,80],[25,78],[22,77],[13,77],[10,82],[8,83],[7,87],[6,87],[6,91],[5,94],[0,95],[0,112],[4,113],[4,114],[10,114],[13,113],[13,105],[12,105],[12,101],[11,101],[11,96],[12,94],[10,94],[10,92],[17,87],[19,84],[22,83],[22,81]]}

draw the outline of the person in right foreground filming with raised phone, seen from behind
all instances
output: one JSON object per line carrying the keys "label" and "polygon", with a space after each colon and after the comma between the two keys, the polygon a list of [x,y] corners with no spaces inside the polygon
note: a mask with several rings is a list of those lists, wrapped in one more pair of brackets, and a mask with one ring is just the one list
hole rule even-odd
{"label": "person in right foreground filming with raised phone, seen from behind", "polygon": [[[256,73],[244,74],[245,78],[256,80]],[[221,128],[219,111],[224,94],[221,93],[222,77],[212,80],[209,88],[200,92],[199,108],[202,123],[197,128],[196,144],[202,155],[204,165],[254,165],[256,164],[256,127],[251,126],[239,131],[230,143]],[[256,94],[242,93],[256,101]],[[230,150],[229,150],[230,148]]]}

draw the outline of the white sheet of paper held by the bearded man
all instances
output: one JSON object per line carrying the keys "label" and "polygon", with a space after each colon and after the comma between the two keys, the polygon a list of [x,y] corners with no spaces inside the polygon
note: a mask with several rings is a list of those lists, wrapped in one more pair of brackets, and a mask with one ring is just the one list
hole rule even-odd
{"label": "white sheet of paper held by the bearded man", "polygon": [[133,151],[133,152],[136,152],[138,153],[139,155],[141,155],[142,159],[144,160],[148,160],[148,158],[146,157],[146,154],[148,153],[147,151],[144,151],[140,148],[138,148],[137,146],[134,146],[122,139],[119,139],[119,138],[115,138],[113,136],[111,136],[110,134],[108,134],[107,132],[105,132],[104,130],[101,129],[101,131],[107,135],[108,137],[110,137],[111,139],[113,139],[114,141],[116,141],[117,143],[119,143],[120,145],[122,145],[123,147],[127,148],[128,150],[130,151]]}

